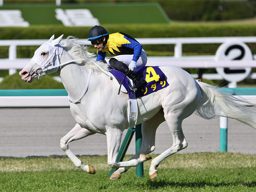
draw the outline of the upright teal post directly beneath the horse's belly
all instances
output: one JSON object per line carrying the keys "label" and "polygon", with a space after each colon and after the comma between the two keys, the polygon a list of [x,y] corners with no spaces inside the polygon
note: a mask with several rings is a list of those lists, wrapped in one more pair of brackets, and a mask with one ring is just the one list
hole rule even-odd
{"label": "upright teal post directly beneath the horse's belly", "polygon": [[[142,143],[142,134],[141,134],[141,124],[138,124],[135,126],[135,139],[136,139],[136,153],[139,152],[141,143]],[[136,166],[136,176],[137,177],[143,177],[143,163],[140,163]]]}

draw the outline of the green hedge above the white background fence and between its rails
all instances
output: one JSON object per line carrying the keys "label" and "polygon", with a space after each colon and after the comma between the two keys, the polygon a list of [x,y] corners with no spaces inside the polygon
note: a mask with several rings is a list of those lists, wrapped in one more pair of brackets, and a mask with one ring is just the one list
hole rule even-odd
{"label": "green hedge above the white background fence and between its rails", "polygon": [[[161,37],[220,37],[220,36],[256,36],[256,24],[112,24],[104,25],[109,33],[122,31],[134,38],[161,38]],[[77,38],[88,38],[90,27],[64,26],[32,26],[29,28],[0,28],[0,39],[48,39],[52,34],[56,37],[64,34]],[[185,44],[185,54],[215,54],[219,44]],[[253,53],[256,45],[248,44]],[[19,58],[33,56],[37,46],[18,47]],[[174,45],[144,45],[149,55],[172,55]],[[0,58],[8,56],[8,48],[0,49]],[[93,51],[95,51],[93,49]]]}

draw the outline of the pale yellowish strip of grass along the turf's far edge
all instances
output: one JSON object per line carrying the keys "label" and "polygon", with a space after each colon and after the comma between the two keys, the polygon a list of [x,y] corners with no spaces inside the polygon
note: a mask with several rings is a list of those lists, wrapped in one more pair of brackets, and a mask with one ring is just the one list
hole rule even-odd
{"label": "pale yellowish strip of grass along the turf's far edge", "polygon": [[[157,155],[152,154],[152,158]],[[128,155],[124,160],[128,160]],[[110,170],[107,156],[80,156],[82,162],[91,164],[96,170]],[[144,163],[149,168],[150,161]],[[256,155],[239,153],[192,153],[175,154],[164,160],[159,168],[234,168],[256,166]],[[77,170],[66,156],[58,158],[0,158],[0,172]]]}

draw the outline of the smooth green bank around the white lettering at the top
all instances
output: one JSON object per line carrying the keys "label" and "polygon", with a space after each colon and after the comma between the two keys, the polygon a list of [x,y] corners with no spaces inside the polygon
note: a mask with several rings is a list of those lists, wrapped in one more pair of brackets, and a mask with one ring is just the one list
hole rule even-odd
{"label": "smooth green bank around the white lettering at the top", "polygon": [[61,24],[55,18],[55,9],[89,9],[101,25],[128,23],[169,23],[169,19],[157,3],[97,3],[97,4],[20,4],[4,5],[4,10],[18,9],[30,25]]}

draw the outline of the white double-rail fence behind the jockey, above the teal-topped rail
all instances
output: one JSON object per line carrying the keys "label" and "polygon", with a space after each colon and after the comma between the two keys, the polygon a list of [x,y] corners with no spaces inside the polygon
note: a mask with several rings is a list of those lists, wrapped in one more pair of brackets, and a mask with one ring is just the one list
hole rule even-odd
{"label": "white double-rail fence behind the jockey, above the teal-topped rail", "polygon": [[[216,68],[216,67],[254,67],[254,60],[216,61],[215,55],[210,56],[183,56],[183,44],[220,44],[227,41],[256,43],[256,37],[196,37],[196,38],[136,38],[142,45],[147,44],[174,44],[174,56],[148,57],[148,65],[173,65],[181,68]],[[44,40],[0,40],[0,46],[9,46],[9,56],[0,59],[0,70],[10,69],[10,74],[22,69],[30,58],[17,58],[17,46],[40,46]],[[90,45],[88,39],[79,39],[85,45]]]}

